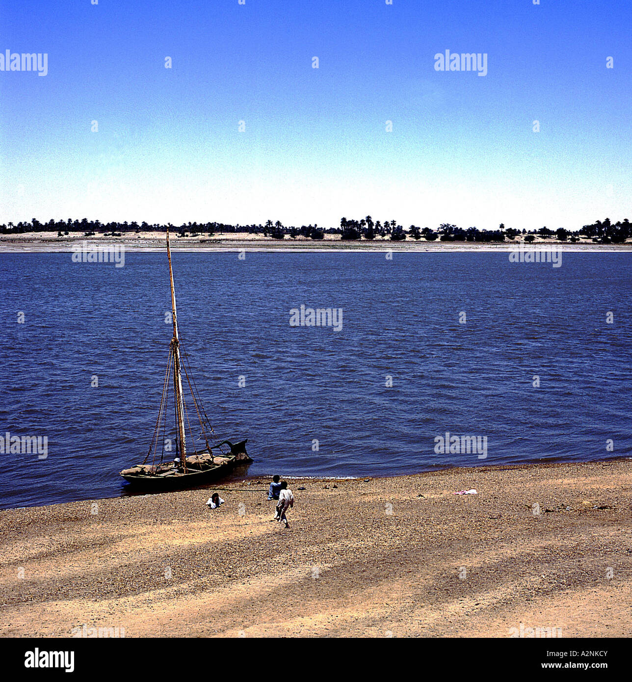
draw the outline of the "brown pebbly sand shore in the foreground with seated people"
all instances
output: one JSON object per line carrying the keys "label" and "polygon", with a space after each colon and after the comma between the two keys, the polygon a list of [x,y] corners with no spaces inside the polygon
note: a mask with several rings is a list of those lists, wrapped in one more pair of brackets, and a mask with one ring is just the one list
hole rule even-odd
{"label": "brown pebbly sand shore in the foreground with seated people", "polygon": [[630,460],[220,487],[1,511],[3,636],[632,634]]}

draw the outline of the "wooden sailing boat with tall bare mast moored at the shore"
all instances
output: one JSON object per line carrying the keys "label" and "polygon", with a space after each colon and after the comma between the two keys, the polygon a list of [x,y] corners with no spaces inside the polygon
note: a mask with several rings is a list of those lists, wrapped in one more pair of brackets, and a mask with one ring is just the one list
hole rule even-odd
{"label": "wooden sailing boat with tall bare mast moored at the shore", "polygon": [[[162,387],[160,409],[158,410],[158,418],[145,460],[142,464],[136,464],[136,466],[132,466],[130,469],[123,469],[123,471],[121,471],[121,476],[130,484],[149,490],[197,486],[198,484],[206,483],[207,481],[217,479],[230,473],[230,470],[237,464],[252,462],[252,459],[248,456],[245,449],[247,439],[235,444],[230,441],[221,441],[215,445],[209,445],[209,437],[215,437],[215,432],[213,431],[209,417],[202,406],[200,394],[198,394],[195,381],[191,374],[188,357],[180,340],[168,230],[167,258],[169,261],[169,278],[171,281],[173,337],[169,344],[169,359],[164,377],[164,385]],[[201,433],[199,434],[199,438],[204,440],[206,446],[202,447],[200,450],[193,449],[193,451],[190,452],[187,452],[185,421],[189,427],[190,443],[194,443],[195,439],[191,430],[187,405],[184,399],[181,370],[184,370],[185,379],[189,386],[198,421],[200,423]],[[167,404],[171,375],[177,429],[175,436],[175,458],[172,461],[165,462],[166,417],[168,412]],[[152,453],[153,457],[151,464],[148,464],[147,462],[150,456],[152,456]],[[169,453],[169,457],[170,454],[171,452]]]}

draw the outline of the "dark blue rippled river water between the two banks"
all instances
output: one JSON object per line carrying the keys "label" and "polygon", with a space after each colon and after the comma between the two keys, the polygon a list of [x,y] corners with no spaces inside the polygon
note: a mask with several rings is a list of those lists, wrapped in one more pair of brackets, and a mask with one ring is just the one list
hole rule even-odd
{"label": "dark blue rippled river water between the two banks", "polygon": [[[0,455],[0,505],[121,494],[160,402],[166,254],[0,264],[0,432],[48,436],[46,459]],[[247,437],[249,475],[632,454],[631,253],[565,253],[559,268],[491,252],[175,253],[173,267],[198,389],[218,435]],[[301,304],[342,308],[342,329],[290,327]],[[446,431],[487,436],[487,458],[435,454]]]}

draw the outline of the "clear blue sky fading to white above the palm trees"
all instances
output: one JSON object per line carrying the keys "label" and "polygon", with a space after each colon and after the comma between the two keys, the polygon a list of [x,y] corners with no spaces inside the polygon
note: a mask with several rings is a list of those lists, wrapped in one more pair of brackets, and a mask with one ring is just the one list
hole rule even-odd
{"label": "clear blue sky fading to white above the palm trees", "polygon": [[[0,222],[632,219],[631,20],[627,0],[0,0],[0,53],[48,53],[44,77],[0,72]],[[487,75],[436,71],[446,49]]]}

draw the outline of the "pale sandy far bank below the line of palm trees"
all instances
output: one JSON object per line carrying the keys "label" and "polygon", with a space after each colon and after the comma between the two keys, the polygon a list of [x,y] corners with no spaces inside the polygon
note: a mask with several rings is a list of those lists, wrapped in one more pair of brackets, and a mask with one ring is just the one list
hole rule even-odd
{"label": "pale sandy far bank below the line of palm trees", "polygon": [[[164,251],[165,235],[160,232],[125,233],[122,237],[105,237],[97,234],[84,237],[82,233],[72,233],[57,237],[55,232],[28,233],[24,235],[0,235],[0,253],[12,252],[71,252],[74,245],[86,244],[118,244],[125,250]],[[520,240],[503,242],[471,242],[471,241],[425,241],[406,239],[391,241],[387,237],[367,241],[342,241],[340,235],[325,235],[325,239],[272,239],[263,235],[247,233],[222,233],[211,237],[177,237],[172,235],[171,247],[181,251],[509,251],[520,245]],[[523,245],[525,246],[525,245]],[[590,239],[582,239],[577,243],[555,241],[552,239],[536,239],[531,246],[548,246],[565,251],[631,251],[632,242],[625,244],[595,244]]]}

